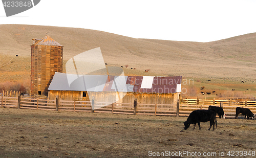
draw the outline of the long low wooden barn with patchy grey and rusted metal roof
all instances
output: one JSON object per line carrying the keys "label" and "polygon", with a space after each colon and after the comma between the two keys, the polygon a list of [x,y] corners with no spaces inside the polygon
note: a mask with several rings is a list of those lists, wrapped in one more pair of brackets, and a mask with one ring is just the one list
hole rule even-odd
{"label": "long low wooden barn with patchy grey and rusted metal roof", "polygon": [[55,73],[49,98],[98,102],[177,104],[181,76],[110,76]]}

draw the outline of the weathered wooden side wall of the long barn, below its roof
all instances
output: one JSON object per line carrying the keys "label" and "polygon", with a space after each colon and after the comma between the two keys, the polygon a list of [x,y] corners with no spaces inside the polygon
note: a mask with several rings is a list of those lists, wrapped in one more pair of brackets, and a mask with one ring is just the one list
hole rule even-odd
{"label": "weathered wooden side wall of the long barn, below its roof", "polygon": [[[119,92],[86,92],[87,97],[82,97],[80,91],[50,91],[50,99],[56,99],[59,96],[61,100],[88,100],[88,94],[95,97],[95,100],[100,102],[116,102],[119,103],[137,103],[141,104],[177,104],[179,94],[150,94],[150,93],[123,93]],[[124,96],[125,95],[125,96]],[[120,96],[120,99],[119,97]],[[124,97],[122,97],[124,96]]]}

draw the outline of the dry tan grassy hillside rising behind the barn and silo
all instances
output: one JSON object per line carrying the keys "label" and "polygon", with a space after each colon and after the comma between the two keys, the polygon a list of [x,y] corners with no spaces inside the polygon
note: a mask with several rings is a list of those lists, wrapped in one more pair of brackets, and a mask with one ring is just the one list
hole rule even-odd
{"label": "dry tan grassy hillside rising behind the barn and silo", "polygon": [[[124,68],[127,75],[182,75],[201,80],[198,86],[208,79],[213,83],[206,84],[226,81],[240,84],[243,80],[254,86],[256,82],[256,33],[202,43],[136,39],[96,30],[31,25],[0,25],[0,82],[30,78],[32,38],[43,38],[46,33],[64,46],[65,60],[100,47],[109,66],[129,65]],[[145,69],[150,69],[151,74],[146,74]]]}

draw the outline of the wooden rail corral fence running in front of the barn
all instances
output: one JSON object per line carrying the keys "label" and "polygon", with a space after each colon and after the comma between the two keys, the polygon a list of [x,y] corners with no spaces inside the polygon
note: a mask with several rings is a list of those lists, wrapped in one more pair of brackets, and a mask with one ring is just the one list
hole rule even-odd
{"label": "wooden rail corral fence running in front of the barn", "polygon": [[[131,115],[155,115],[155,116],[181,116],[187,117],[190,112],[196,109],[208,109],[209,105],[220,106],[222,104],[226,118],[234,118],[236,107],[249,108],[256,114],[256,101],[239,99],[219,99],[219,98],[183,98],[177,104],[140,104],[137,99],[134,103],[108,103],[97,101],[67,101],[49,100],[47,98],[36,97],[5,97],[1,96],[1,107],[13,107],[18,109],[75,111],[75,112],[101,112],[111,114],[131,114]],[[94,107],[94,108],[93,108]],[[94,109],[94,110],[93,110]]]}

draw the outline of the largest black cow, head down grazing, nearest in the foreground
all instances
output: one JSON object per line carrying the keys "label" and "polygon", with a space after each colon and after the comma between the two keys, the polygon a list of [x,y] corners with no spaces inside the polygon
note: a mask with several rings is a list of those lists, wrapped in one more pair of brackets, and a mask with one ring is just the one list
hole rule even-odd
{"label": "largest black cow, head down grazing, nearest in the foreground", "polygon": [[[184,129],[186,130],[190,124],[194,124],[193,129],[195,129],[196,124],[199,126],[199,130],[201,130],[200,122],[208,122],[210,121],[210,128],[211,126],[215,125],[216,123],[216,128],[217,128],[217,119],[216,119],[216,111],[215,110],[194,110],[192,111],[188,118],[187,121],[184,122]],[[210,130],[210,128],[208,130]],[[214,127],[215,129],[215,127]],[[212,129],[212,130],[214,130]]]}

